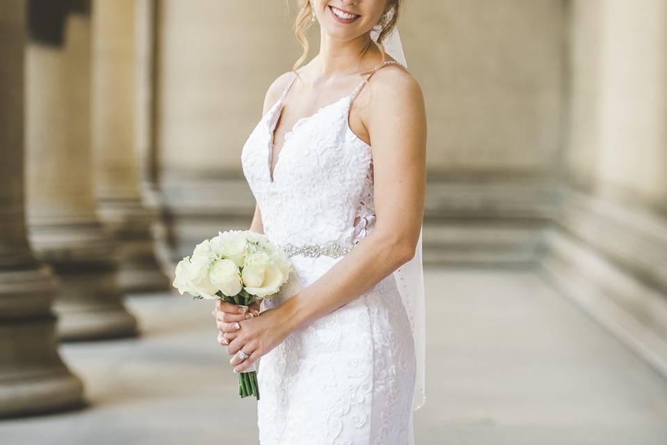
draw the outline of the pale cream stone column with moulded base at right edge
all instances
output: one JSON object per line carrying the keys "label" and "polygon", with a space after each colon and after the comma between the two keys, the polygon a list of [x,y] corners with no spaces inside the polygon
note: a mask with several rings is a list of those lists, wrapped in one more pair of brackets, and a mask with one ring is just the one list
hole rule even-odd
{"label": "pale cream stone column with moulded base at right edge", "polygon": [[575,0],[548,277],[667,377],[667,3]]}

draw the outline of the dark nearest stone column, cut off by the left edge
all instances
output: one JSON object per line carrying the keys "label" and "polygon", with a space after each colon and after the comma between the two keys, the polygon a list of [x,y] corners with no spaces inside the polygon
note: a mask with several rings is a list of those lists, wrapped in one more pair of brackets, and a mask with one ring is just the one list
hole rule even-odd
{"label": "dark nearest stone column, cut off by the left edge", "polygon": [[24,213],[24,1],[0,2],[0,417],[81,403],[58,355],[58,281],[35,260]]}

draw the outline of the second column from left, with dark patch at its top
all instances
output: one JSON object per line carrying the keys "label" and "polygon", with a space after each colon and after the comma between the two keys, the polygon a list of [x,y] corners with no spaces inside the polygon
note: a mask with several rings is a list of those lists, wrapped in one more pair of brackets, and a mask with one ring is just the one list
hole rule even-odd
{"label": "second column from left, with dark patch at its top", "polygon": [[93,197],[90,3],[31,3],[26,53],[28,222],[40,259],[62,279],[62,339],[136,334],[117,286],[117,253]]}

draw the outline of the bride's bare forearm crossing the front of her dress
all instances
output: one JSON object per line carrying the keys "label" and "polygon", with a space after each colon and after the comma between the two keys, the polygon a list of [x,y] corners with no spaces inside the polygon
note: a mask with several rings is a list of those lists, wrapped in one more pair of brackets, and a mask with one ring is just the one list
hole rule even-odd
{"label": "bride's bare forearm crossing the front of her dress", "polygon": [[404,264],[406,251],[402,241],[378,232],[363,238],[311,286],[283,302],[280,310],[290,331],[359,298]]}

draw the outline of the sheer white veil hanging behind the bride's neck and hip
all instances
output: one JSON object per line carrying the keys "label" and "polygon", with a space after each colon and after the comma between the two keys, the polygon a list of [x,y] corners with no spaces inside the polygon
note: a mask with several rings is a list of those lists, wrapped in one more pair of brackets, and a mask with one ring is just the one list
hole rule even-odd
{"label": "sheer white veil hanging behind the bride's neck and hip", "polygon": [[[371,31],[371,38],[377,42],[379,33],[376,30]],[[384,49],[387,54],[395,58],[399,63],[406,67],[408,64],[403,53],[398,28],[394,27],[384,42]],[[415,248],[415,256],[402,265],[393,273],[398,289],[400,290],[403,304],[405,306],[412,336],[415,341],[415,356],[417,358],[417,373],[415,377],[415,395],[412,401],[413,410],[419,410],[426,401],[425,391],[425,362],[426,362],[426,295],[424,289],[424,273],[422,267],[422,227],[419,231],[419,239]]]}

